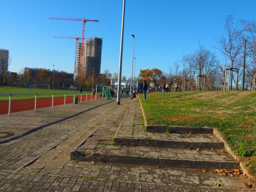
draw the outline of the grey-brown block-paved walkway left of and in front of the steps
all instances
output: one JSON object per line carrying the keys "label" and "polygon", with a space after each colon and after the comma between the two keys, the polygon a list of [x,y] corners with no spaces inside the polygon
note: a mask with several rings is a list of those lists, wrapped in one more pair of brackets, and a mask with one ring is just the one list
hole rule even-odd
{"label": "grey-brown block-paved walkway left of and in front of the steps", "polygon": [[[70,160],[70,151],[85,141],[90,142],[86,148],[111,147],[127,109],[138,104],[135,99],[122,99],[121,103],[118,106],[114,99],[99,99],[0,115],[0,132],[15,134],[0,140],[0,191],[247,190],[241,177],[193,169]],[[225,186],[215,186],[220,183]]]}

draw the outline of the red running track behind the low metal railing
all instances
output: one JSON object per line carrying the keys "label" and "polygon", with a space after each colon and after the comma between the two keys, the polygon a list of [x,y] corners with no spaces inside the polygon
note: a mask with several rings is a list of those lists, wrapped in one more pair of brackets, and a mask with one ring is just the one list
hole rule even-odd
{"label": "red running track behind the low metal railing", "polygon": [[[73,96],[66,97],[66,104],[73,103]],[[92,100],[95,96],[92,96]],[[101,98],[100,95],[97,98]],[[91,96],[87,96],[87,101],[90,101]],[[78,102],[80,102],[81,96],[78,96]],[[86,96],[82,96],[82,101],[86,101]],[[55,97],[53,105],[64,105],[64,97]],[[37,99],[36,108],[46,108],[52,106],[52,98]],[[26,111],[35,109],[35,99],[13,100],[11,104],[11,113],[18,111]],[[9,111],[9,101],[0,101],[0,115],[6,114]]]}

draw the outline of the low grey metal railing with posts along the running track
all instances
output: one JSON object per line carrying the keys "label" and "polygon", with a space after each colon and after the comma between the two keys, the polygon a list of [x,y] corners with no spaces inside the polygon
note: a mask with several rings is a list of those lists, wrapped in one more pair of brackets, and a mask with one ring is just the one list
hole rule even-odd
{"label": "low grey metal railing with posts along the running track", "polygon": [[[54,103],[54,95],[58,95],[58,94],[64,94],[64,105],[66,105],[66,96],[67,95],[70,95],[70,94],[73,94],[73,98],[76,97],[76,94],[78,93],[0,93],[0,96],[1,95],[9,95],[9,111],[8,111],[8,116],[11,115],[11,106],[12,106],[12,96],[14,95],[35,95],[35,111],[36,111],[36,108],[37,108],[37,96],[38,95],[52,95],[52,108],[53,108],[53,103]],[[82,93],[80,94],[81,98],[80,98],[80,102],[82,102]],[[85,95],[84,95],[85,96]],[[91,93],[91,97],[90,97],[90,100],[92,100],[92,96],[93,96],[93,93]],[[95,95],[95,100],[97,99],[96,98],[97,95]],[[49,98],[49,97],[45,97],[44,99],[46,98]],[[86,93],[86,102],[87,102],[87,93]]]}

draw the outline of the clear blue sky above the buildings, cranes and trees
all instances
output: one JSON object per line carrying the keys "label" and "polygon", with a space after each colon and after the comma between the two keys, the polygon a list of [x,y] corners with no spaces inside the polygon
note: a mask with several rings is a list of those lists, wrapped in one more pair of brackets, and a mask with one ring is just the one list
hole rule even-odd
{"label": "clear blue sky above the buildings, cranes and trees", "polygon": [[[81,21],[48,17],[98,19],[88,22],[85,37],[102,37],[101,71],[118,72],[122,0],[1,0],[0,49],[9,49],[10,71],[46,67],[73,72],[75,40]],[[223,20],[256,20],[255,0],[126,0],[122,75],[131,76],[132,43],[139,69],[169,71],[182,55],[195,51],[198,41],[216,52],[215,38],[224,33]]]}

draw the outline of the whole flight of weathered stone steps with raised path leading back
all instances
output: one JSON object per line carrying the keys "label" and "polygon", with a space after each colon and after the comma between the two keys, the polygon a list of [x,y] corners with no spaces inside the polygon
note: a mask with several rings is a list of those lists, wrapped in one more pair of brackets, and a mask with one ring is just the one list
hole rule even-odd
{"label": "whole flight of weathered stone steps with raised path leading back", "polygon": [[193,169],[239,168],[239,162],[222,151],[224,143],[212,132],[212,128],[161,125],[143,130],[140,105],[134,100],[113,136],[108,128],[92,134],[71,151],[70,159]]}

